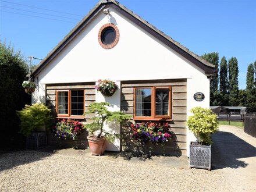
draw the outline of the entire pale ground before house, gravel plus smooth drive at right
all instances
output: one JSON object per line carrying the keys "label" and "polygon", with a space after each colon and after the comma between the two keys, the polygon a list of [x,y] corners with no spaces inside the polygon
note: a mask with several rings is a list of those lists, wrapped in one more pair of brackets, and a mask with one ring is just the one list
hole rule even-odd
{"label": "entire pale ground before house, gravel plus smooth drive at right", "polygon": [[[256,191],[256,138],[221,126],[214,142],[212,171],[189,169],[186,157],[0,151],[0,191]],[[244,151],[237,152],[237,145]]]}

